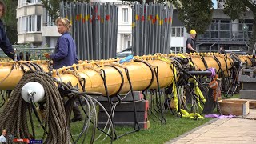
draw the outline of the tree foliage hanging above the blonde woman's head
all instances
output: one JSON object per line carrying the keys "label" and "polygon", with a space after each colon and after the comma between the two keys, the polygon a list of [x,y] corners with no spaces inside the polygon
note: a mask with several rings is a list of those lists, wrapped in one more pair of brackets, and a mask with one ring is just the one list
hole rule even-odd
{"label": "tree foliage hanging above the blonde woman's head", "polygon": [[48,10],[50,16],[54,19],[59,17],[60,2],[90,2],[90,0],[42,0],[42,4]]}

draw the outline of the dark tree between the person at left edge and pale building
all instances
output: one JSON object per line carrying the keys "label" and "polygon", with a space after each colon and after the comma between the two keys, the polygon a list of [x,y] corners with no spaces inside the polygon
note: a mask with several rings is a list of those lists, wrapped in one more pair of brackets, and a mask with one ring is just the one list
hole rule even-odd
{"label": "dark tree between the person at left edge and pale building", "polygon": [[10,39],[10,43],[14,44],[18,41],[16,19],[16,7],[18,5],[18,1],[4,0],[3,2],[6,4],[6,15],[3,18],[3,22],[6,25],[6,34]]}

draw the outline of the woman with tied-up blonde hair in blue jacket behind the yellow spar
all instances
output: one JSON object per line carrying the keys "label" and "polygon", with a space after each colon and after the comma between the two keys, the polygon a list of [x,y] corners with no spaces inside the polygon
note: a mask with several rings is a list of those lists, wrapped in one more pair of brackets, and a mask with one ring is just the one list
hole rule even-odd
{"label": "woman with tied-up blonde hair in blue jacket behind the yellow spar", "polygon": [[[78,63],[76,46],[74,39],[70,35],[70,21],[67,18],[57,18],[56,25],[58,26],[58,33],[62,34],[62,36],[58,38],[54,54],[44,54],[46,58],[53,60],[54,69]],[[82,121],[82,114],[76,102],[74,102],[73,113],[74,118],[71,119],[71,122]]]}

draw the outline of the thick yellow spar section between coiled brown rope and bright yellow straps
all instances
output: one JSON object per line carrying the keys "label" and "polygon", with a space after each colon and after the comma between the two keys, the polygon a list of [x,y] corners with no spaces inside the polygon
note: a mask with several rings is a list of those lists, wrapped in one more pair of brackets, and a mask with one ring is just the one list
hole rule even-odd
{"label": "thick yellow spar section between coiled brown rope and bright yellow straps", "polygon": [[[116,62],[107,62],[107,65],[95,67],[97,63],[100,65],[100,62],[80,64],[79,70],[76,71],[81,78],[85,78],[87,92],[100,92],[105,96],[106,89],[102,78],[104,74],[109,95],[126,93],[130,90],[127,72],[133,90],[155,89],[158,87],[157,78],[161,88],[170,86],[174,79],[170,63],[161,60],[140,60],[126,62],[122,65]],[[80,86],[78,78],[71,74],[72,72],[66,73],[66,68],[57,71],[58,73],[54,72],[54,77],[58,80],[71,82],[72,86],[77,84]]]}

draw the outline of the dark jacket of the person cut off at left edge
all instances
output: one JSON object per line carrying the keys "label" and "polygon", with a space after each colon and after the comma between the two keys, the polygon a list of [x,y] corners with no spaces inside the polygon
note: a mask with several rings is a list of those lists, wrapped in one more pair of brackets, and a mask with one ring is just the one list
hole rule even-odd
{"label": "dark jacket of the person cut off at left edge", "polygon": [[2,51],[14,60],[14,48],[10,44],[9,38],[6,36],[6,30],[3,26],[2,20],[0,19],[0,47]]}

